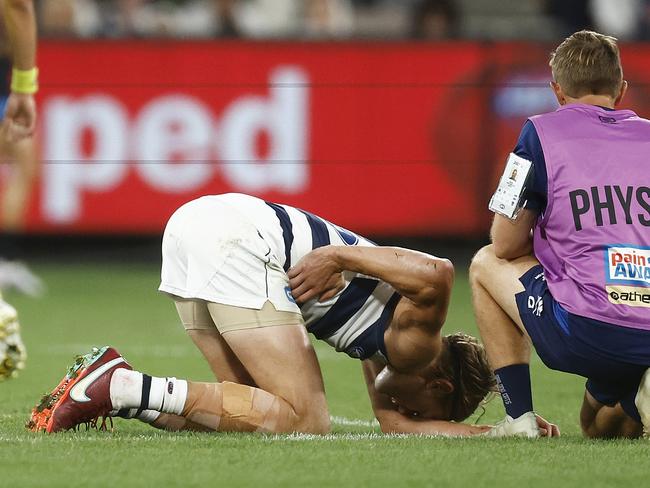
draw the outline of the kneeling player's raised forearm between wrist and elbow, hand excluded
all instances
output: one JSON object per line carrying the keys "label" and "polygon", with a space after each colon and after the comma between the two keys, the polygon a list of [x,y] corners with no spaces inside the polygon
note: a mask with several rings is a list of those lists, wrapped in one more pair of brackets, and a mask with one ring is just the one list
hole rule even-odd
{"label": "kneeling player's raised forearm between wrist and elbow, hand excluded", "polygon": [[399,247],[333,247],[341,270],[354,271],[386,281],[401,295],[426,302],[451,289],[454,268],[440,259]]}

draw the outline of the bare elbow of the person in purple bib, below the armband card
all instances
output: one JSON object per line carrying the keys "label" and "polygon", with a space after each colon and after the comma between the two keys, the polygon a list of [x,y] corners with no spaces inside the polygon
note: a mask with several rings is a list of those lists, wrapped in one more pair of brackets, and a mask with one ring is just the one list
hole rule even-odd
{"label": "bare elbow of the person in purple bib, below the armband card", "polygon": [[516,259],[531,254],[531,231],[536,219],[537,213],[528,209],[523,209],[515,220],[495,214],[490,236],[496,256],[501,259]]}

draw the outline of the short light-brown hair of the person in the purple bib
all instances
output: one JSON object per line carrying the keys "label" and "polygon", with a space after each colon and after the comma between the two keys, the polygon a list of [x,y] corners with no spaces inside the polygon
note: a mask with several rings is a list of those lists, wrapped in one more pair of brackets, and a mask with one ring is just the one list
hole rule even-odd
{"label": "short light-brown hair of the person in the purple bib", "polygon": [[573,98],[609,95],[616,98],[623,83],[621,56],[615,37],[582,30],[567,37],[551,53],[553,79]]}

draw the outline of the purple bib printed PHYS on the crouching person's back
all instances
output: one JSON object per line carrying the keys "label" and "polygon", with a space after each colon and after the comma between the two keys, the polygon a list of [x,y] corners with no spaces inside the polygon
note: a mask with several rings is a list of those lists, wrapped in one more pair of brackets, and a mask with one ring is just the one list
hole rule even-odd
{"label": "purple bib printed PHYS on the crouching person's back", "polygon": [[571,104],[531,117],[548,174],[535,256],[566,310],[650,330],[650,121]]}

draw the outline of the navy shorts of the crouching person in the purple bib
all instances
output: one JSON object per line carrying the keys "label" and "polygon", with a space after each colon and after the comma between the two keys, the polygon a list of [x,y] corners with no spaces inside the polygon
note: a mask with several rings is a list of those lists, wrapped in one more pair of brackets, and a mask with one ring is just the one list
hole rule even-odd
{"label": "navy shorts of the crouching person in the purple bib", "polygon": [[637,417],[629,402],[650,367],[650,331],[567,312],[551,296],[541,265],[519,281],[525,289],[515,295],[519,315],[542,362],[587,378],[586,388],[596,400],[610,406],[621,402]]}

